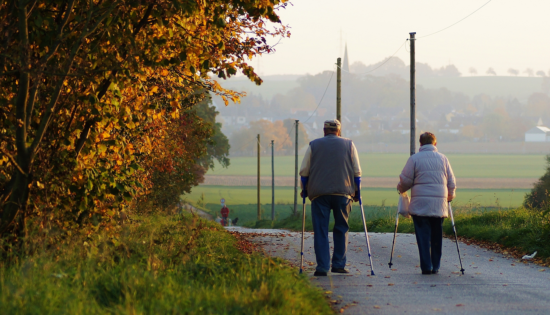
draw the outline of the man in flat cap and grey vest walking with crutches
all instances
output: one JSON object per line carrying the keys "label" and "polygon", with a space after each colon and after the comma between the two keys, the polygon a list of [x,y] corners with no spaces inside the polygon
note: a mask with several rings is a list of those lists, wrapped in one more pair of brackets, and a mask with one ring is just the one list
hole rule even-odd
{"label": "man in flat cap and grey vest walking with crutches", "polygon": [[327,275],[330,266],[328,221],[331,210],[334,216],[331,272],[349,273],[345,269],[348,250],[348,216],[351,202],[358,201],[354,177],[361,177],[357,149],[350,139],[340,137],[340,122],[324,122],[324,137],[310,142],[300,167],[300,176],[308,177],[302,187],[311,200],[313,248],[317,259],[314,275]]}

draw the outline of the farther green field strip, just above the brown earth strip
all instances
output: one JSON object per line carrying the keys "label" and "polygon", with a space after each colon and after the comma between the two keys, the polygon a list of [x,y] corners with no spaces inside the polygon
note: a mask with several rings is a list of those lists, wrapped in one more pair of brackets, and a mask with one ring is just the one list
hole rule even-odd
{"label": "farther green field strip, just above the brown earth strip", "polygon": [[[397,177],[408,154],[360,154],[362,176]],[[544,155],[448,154],[456,177],[533,178],[544,173]],[[303,156],[299,156],[299,164]],[[217,165],[208,175],[256,175],[256,158],[231,158],[228,168]],[[294,176],[294,156],[276,156],[275,176]],[[271,176],[271,158],[260,159],[261,176]]]}

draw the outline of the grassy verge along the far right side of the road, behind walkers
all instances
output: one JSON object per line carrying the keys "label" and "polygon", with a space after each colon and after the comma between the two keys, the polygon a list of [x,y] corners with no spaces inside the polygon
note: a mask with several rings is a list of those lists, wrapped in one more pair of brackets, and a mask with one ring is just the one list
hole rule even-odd
{"label": "grassy verge along the far right side of the road, behind walkers", "polygon": [[[367,229],[369,232],[393,233],[395,229],[395,207],[373,207],[366,209]],[[307,212],[306,212],[307,213]],[[525,254],[538,251],[537,257],[550,257],[550,212],[526,209],[473,208],[460,206],[453,208],[456,232],[461,237],[488,241],[516,248]],[[331,220],[330,229],[333,223]],[[350,232],[362,232],[363,226],[360,211],[350,213]],[[271,223],[268,220],[256,222],[257,228],[285,228],[301,230],[301,217],[289,216],[281,221]],[[306,230],[311,231],[311,217],[306,215]],[[414,225],[409,218],[399,217],[399,233],[414,233]],[[443,223],[443,232],[453,235],[450,218]],[[546,260],[550,263],[550,258]]]}

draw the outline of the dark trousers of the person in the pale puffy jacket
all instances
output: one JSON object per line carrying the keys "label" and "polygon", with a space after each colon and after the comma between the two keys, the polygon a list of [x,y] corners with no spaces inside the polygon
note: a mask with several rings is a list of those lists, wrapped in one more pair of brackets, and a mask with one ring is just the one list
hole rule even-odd
{"label": "dark trousers of the person in the pale puffy jacket", "polygon": [[436,271],[441,265],[443,218],[411,215],[422,271]]}

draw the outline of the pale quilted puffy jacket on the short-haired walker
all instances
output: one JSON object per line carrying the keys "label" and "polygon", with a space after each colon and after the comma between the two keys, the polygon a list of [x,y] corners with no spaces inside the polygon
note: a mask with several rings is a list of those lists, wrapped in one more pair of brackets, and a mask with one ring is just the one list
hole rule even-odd
{"label": "pale quilted puffy jacket on the short-haired walker", "polygon": [[439,153],[435,145],[422,145],[419,153],[407,160],[397,189],[400,193],[411,190],[411,215],[448,217],[447,198],[454,198],[456,181],[447,156]]}

